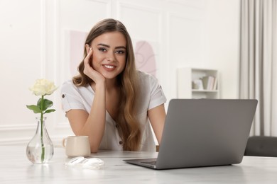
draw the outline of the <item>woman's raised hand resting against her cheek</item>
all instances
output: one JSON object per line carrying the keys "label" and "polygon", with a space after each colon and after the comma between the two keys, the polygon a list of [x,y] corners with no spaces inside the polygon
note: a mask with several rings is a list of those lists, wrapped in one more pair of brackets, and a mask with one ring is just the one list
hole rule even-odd
{"label": "woman's raised hand resting against her cheek", "polygon": [[84,59],[84,65],[85,65],[84,74],[86,74],[90,79],[92,79],[92,81],[95,82],[95,84],[97,84],[98,82],[105,81],[105,78],[102,74],[100,74],[98,71],[94,70],[90,66],[89,62],[92,62],[92,54],[93,54],[93,50],[90,47],[87,57],[85,57]]}

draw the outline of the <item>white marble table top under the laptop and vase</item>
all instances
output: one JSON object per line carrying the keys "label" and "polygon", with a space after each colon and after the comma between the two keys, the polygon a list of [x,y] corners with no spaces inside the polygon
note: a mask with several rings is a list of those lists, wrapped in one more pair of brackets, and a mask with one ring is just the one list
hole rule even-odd
{"label": "white marble table top under the laptop and vase", "polygon": [[92,154],[105,162],[101,169],[67,167],[63,148],[55,148],[50,163],[33,164],[26,148],[0,146],[0,183],[277,183],[277,158],[244,156],[233,166],[181,168],[155,171],[133,166],[123,159],[148,158],[157,153],[100,151]]}

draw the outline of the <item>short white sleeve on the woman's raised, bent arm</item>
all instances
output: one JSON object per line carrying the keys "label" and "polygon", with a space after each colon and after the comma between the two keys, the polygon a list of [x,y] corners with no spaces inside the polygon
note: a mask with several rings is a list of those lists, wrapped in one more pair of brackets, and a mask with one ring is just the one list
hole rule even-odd
{"label": "short white sleeve on the woman's raised, bent arm", "polygon": [[71,81],[67,81],[63,84],[61,88],[61,97],[63,110],[65,112],[72,109],[85,110],[80,91]]}

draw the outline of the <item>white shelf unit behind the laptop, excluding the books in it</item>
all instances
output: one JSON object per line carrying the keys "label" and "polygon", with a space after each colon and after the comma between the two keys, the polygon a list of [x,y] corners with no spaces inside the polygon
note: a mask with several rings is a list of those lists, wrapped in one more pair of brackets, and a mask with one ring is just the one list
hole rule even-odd
{"label": "white shelf unit behind the laptop, excluding the books in it", "polygon": [[[219,72],[216,69],[180,68],[177,71],[178,98],[219,98]],[[214,76],[216,88],[193,89],[192,81],[202,79],[204,76]]]}

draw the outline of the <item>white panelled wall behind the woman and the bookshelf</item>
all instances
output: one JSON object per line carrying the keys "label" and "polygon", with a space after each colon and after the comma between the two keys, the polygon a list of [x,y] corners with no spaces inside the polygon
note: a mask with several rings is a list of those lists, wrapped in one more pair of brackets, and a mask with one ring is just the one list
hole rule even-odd
{"label": "white panelled wall behind the woman and the bookshelf", "polygon": [[[1,0],[0,144],[26,144],[36,129],[26,104],[38,78],[61,86],[70,79],[68,31],[88,32],[102,18],[117,18],[134,40],[156,49],[157,77],[168,100],[176,98],[178,67],[220,72],[221,98],[238,98],[239,0]],[[60,103],[50,100],[48,133],[55,144],[72,134]]]}

